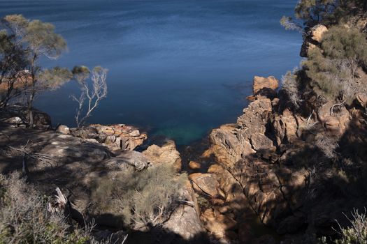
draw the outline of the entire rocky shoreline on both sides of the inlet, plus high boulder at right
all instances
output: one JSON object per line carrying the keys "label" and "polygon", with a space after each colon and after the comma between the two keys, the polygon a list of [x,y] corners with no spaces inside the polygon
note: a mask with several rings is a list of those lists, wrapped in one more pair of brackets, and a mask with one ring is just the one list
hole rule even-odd
{"label": "entire rocky shoreline on both sides of the inlet, plus high boulder at right", "polygon": [[[326,32],[310,29],[302,54]],[[296,107],[279,87],[275,77],[254,77],[236,123],[181,155],[171,140],[136,151],[147,134],[130,125],[53,129],[50,116],[34,110],[30,129],[25,109],[10,106],[0,113],[0,170],[23,171],[45,195],[66,191],[73,208],[108,236],[124,227],[119,216],[91,210],[101,179],[168,165],[175,178],[189,172],[180,203],[159,228],[127,230],[128,243],[315,243],[336,236],[347,225],[344,213],[364,206],[367,96],[340,105],[305,91]]]}

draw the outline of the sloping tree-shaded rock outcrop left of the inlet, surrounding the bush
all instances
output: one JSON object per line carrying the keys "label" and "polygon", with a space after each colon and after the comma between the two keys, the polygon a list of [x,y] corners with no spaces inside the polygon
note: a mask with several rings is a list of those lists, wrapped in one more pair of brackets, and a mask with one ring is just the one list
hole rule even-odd
{"label": "sloping tree-shaded rock outcrop left of the inlet, surrounding the bush", "polygon": [[[1,114],[1,173],[23,171],[28,181],[45,195],[52,195],[55,188],[61,188],[73,209],[83,213],[86,221],[91,216],[95,218],[98,227],[113,227],[113,231],[122,227],[116,216],[90,207],[91,203],[99,201],[94,197],[101,179],[113,181],[123,174],[136,172],[138,175],[140,172],[137,171],[148,170],[157,164],[177,167],[181,162],[180,153],[172,141],[163,146],[150,146],[143,152],[130,150],[141,144],[146,135],[126,125],[93,125],[83,131],[83,138],[80,134],[73,136],[75,130],[66,126],[59,126],[56,131],[14,126],[22,123],[18,118],[17,114]],[[107,138],[113,143],[121,140],[120,146],[115,144],[111,147]],[[112,151],[111,148],[117,150]],[[139,243],[144,238],[164,238],[164,243],[207,243],[206,231],[199,218],[199,206],[188,180],[180,189],[180,200],[182,202],[176,203],[177,208],[172,210],[161,227],[152,231],[145,229],[145,232],[133,230],[132,234],[129,233],[128,243]],[[115,238],[120,232],[98,231],[97,236],[102,238],[113,234]]]}

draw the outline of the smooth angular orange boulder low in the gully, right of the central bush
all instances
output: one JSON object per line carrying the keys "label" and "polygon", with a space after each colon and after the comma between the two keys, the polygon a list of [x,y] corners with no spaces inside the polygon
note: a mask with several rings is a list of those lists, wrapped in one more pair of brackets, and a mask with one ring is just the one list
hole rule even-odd
{"label": "smooth angular orange boulder low in the gully, right of the central bush", "polygon": [[215,174],[201,174],[194,173],[189,175],[190,180],[192,180],[192,186],[194,190],[198,192],[203,192],[211,197],[215,197],[218,194],[218,181]]}

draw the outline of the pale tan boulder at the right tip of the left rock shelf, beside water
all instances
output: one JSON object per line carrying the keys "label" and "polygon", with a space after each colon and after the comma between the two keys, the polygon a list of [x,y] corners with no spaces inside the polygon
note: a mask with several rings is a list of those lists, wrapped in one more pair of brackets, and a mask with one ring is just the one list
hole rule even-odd
{"label": "pale tan boulder at the right tip of the left rock shelf, beside water", "polygon": [[143,154],[152,164],[171,164],[178,171],[181,169],[180,153],[176,150],[173,141],[168,141],[163,146],[149,146]]}

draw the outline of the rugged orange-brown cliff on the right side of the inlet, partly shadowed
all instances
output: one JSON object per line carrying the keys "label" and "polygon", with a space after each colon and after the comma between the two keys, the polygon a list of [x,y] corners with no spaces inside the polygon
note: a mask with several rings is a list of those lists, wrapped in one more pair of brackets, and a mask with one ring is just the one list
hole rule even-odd
{"label": "rugged orange-brown cliff on the right side of the inlet, partly shadowed", "polygon": [[[210,199],[201,215],[206,229],[226,243],[315,243],[336,235],[335,220],[343,223],[343,212],[366,199],[366,100],[317,106],[317,96],[305,94],[297,110],[277,88],[275,78],[255,77],[253,101],[236,123],[210,133],[197,159],[212,154],[216,163],[190,175]],[[254,215],[276,233],[259,238]]]}

